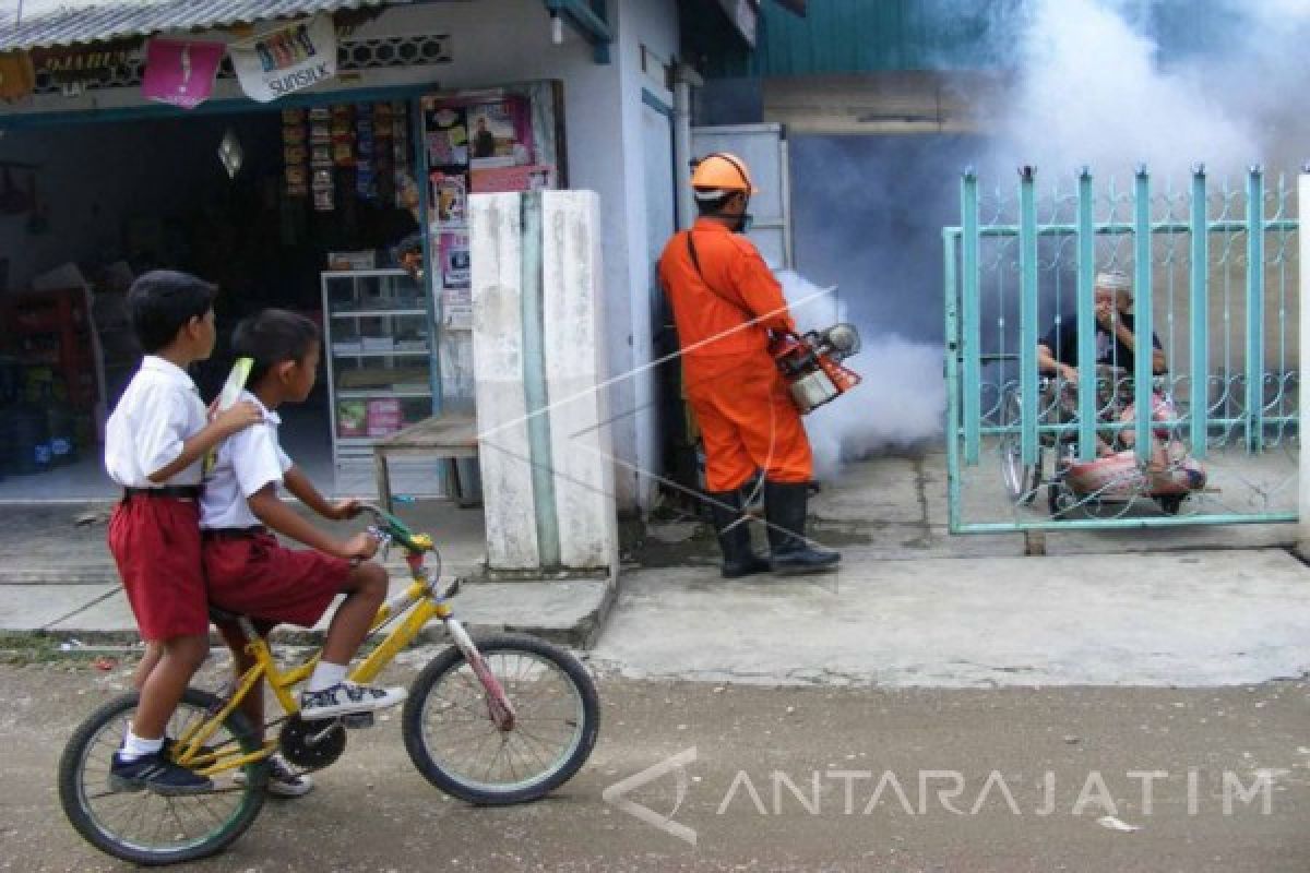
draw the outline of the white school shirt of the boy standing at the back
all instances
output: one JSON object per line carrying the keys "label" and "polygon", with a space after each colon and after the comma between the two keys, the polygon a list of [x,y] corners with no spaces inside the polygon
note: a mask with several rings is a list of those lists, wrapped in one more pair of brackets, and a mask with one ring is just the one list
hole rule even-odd
{"label": "white school shirt of the boy standing at the back", "polygon": [[124,488],[200,484],[200,461],[168,482],[151,482],[149,475],[177,461],[182,444],[199,433],[206,420],[200,391],[186,370],[147,355],[105,423],[109,478]]}

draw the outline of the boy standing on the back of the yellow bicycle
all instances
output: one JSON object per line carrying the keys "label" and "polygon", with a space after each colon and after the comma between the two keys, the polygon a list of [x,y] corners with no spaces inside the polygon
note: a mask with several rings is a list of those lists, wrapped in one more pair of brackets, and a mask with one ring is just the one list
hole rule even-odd
{"label": "boy standing on the back of the yellow bicycle", "polygon": [[214,783],[174,764],[164,729],[210,652],[200,575],[196,500],[200,466],[220,440],[259,420],[237,403],[207,421],[186,368],[214,352],[214,296],[207,281],[165,270],[132,283],[127,308],[145,351],[105,428],[105,469],[123,487],[109,522],[109,550],[123,579],[147,653],[136,669],[136,716],[110,763],[118,791],[190,794]]}

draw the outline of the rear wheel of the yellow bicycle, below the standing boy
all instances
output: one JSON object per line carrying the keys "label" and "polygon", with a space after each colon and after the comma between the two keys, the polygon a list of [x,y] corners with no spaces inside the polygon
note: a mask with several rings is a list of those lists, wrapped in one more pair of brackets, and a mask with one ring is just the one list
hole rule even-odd
{"label": "rear wheel of the yellow bicycle, below the standing boy", "polygon": [[[204,794],[162,797],[148,789],[118,792],[109,787],[110,757],[123,741],[140,695],[115,698],[73,732],[59,759],[59,802],[86,842],[134,864],[178,864],[215,855],[245,832],[263,806],[267,764],[246,764],[245,784],[229,772],[214,777]],[[223,707],[212,694],[187,688],[169,720],[166,736],[183,733]],[[206,749],[236,755],[258,751],[250,722],[233,712],[206,741]],[[237,771],[231,771],[237,772]]]}

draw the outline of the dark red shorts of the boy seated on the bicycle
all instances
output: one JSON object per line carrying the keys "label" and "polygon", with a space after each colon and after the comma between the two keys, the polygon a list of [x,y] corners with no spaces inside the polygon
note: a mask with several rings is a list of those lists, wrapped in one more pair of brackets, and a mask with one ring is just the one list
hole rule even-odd
{"label": "dark red shorts of the boy seated on the bicycle", "polygon": [[313,627],[342,592],[351,564],[313,548],[286,548],[272,534],[206,537],[210,602],[266,622]]}

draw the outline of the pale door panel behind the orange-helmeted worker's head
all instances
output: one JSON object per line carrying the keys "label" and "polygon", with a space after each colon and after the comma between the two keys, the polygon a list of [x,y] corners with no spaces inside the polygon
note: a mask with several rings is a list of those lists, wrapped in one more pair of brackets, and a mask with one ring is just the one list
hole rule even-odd
{"label": "pale door panel behind the orange-helmeted worker's head", "polygon": [[751,178],[760,192],[751,198],[751,241],[769,266],[790,270],[791,260],[791,185],[787,171],[787,140],[782,124],[732,124],[727,127],[693,127],[692,154],[703,157],[714,152],[731,152],[751,168]]}

